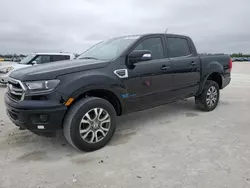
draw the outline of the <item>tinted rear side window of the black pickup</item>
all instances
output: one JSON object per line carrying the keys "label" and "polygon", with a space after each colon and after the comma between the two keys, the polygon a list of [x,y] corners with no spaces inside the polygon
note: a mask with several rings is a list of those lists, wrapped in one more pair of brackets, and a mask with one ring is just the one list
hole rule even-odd
{"label": "tinted rear side window of the black pickup", "polygon": [[169,57],[181,57],[190,55],[187,39],[167,38],[167,51]]}

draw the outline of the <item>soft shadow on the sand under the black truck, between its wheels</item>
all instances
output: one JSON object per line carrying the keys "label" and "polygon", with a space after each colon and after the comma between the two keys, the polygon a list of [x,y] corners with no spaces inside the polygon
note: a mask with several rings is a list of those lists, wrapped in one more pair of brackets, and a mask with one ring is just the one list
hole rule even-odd
{"label": "soft shadow on the sand under the black truck, between its wheels", "polygon": [[193,99],[185,99],[156,108],[131,113],[118,117],[117,130],[109,145],[127,143],[141,128],[152,125],[166,125],[178,118],[195,117],[199,111],[195,108]]}

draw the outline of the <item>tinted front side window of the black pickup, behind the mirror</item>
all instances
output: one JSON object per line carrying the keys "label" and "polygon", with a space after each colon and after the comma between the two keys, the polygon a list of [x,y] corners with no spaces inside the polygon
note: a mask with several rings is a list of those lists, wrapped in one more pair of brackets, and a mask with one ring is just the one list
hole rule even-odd
{"label": "tinted front side window of the black pickup, behind the mirror", "polygon": [[145,39],[134,50],[149,50],[152,53],[153,59],[164,58],[161,38]]}

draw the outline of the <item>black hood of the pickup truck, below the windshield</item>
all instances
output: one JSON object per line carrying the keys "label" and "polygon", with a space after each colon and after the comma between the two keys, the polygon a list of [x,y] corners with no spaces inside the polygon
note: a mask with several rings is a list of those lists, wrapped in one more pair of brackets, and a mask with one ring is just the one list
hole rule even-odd
{"label": "black hood of the pickup truck, below the windshield", "polygon": [[105,67],[109,61],[76,59],[35,65],[13,71],[11,78],[21,81],[49,80],[64,74]]}

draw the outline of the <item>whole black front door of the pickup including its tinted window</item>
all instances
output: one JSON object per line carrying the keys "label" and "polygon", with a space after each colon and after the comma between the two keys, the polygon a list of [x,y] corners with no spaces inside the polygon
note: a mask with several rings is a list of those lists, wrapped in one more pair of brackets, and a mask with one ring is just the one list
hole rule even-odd
{"label": "whole black front door of the pickup including its tinted window", "polygon": [[163,103],[172,88],[172,73],[171,62],[163,51],[162,37],[146,38],[134,49],[151,51],[153,59],[138,62],[133,69],[128,69],[128,78],[123,80],[128,91],[126,102],[131,109]]}

